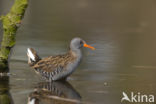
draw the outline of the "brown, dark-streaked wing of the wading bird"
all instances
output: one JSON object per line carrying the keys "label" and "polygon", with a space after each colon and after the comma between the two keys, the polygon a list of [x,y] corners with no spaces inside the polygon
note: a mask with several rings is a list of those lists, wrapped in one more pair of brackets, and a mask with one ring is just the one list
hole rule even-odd
{"label": "brown, dark-streaked wing of the wading bird", "polygon": [[41,69],[46,72],[53,72],[58,68],[65,69],[67,64],[74,61],[75,57],[69,52],[65,55],[51,56],[40,60],[33,68]]}

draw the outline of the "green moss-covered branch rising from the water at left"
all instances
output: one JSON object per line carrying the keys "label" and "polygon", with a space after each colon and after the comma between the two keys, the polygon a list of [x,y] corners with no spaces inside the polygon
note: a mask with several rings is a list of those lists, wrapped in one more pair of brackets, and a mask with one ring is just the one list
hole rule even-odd
{"label": "green moss-covered branch rising from the water at left", "polygon": [[16,31],[21,24],[28,5],[28,0],[15,0],[10,12],[1,16],[3,25],[3,38],[0,48],[0,72],[8,72],[8,58],[15,45]]}

